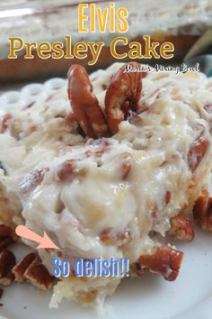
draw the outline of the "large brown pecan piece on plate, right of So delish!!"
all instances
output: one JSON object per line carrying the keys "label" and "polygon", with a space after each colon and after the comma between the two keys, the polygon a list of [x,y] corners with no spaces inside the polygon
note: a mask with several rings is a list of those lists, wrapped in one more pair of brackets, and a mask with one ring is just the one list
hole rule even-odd
{"label": "large brown pecan piece on plate, right of So delish!!", "polygon": [[151,255],[142,255],[137,260],[137,269],[148,269],[163,276],[165,280],[173,281],[179,275],[182,258],[183,252],[170,246],[156,247]]}

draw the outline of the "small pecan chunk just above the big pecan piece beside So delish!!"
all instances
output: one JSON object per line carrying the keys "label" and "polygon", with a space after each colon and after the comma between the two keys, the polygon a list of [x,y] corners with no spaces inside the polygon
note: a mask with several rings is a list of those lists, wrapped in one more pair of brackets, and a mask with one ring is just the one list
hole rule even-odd
{"label": "small pecan chunk just above the big pecan piece beside So delish!!", "polygon": [[191,242],[194,238],[193,225],[189,217],[173,216],[170,220],[171,229],[169,235],[177,238],[179,241]]}

